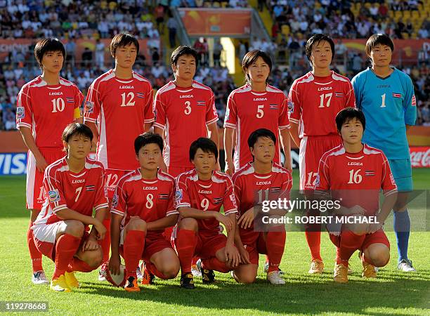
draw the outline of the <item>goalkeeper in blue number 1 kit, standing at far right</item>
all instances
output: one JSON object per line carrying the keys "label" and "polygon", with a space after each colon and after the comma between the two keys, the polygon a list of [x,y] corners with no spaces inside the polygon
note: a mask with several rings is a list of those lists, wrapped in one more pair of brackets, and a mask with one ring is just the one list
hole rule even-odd
{"label": "goalkeeper in blue number 1 kit, standing at far right", "polygon": [[417,102],[410,77],[390,67],[393,50],[393,41],[387,35],[373,34],[366,43],[372,67],[353,78],[353,87],[357,106],[367,119],[363,140],[386,154],[399,191],[393,208],[397,268],[413,272],[415,268],[408,258],[410,218],[406,202],[412,191],[412,167],[406,131],[415,125]]}

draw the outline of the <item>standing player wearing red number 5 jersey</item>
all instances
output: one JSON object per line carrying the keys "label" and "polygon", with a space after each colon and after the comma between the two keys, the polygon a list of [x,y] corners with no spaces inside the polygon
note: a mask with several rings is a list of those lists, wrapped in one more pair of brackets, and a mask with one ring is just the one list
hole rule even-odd
{"label": "standing player wearing red number 5 jersey", "polygon": [[[242,60],[242,70],[247,84],[228,96],[224,121],[224,147],[226,149],[226,173],[230,176],[252,160],[247,139],[256,129],[269,129],[276,136],[275,159],[280,164],[280,146],[285,154],[285,168],[291,170],[289,144],[289,120],[287,98],[282,91],[268,85],[272,60],[263,51],[250,51]],[[233,164],[233,133],[236,131],[236,147]],[[280,136],[280,142],[279,142]]]}

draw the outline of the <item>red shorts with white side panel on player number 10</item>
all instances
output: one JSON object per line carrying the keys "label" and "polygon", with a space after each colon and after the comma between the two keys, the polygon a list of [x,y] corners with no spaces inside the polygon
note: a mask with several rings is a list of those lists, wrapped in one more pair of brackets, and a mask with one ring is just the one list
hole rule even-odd
{"label": "red shorts with white side panel on player number 10", "polygon": [[[39,148],[39,151],[45,158],[46,164],[52,164],[65,156],[63,147]],[[30,150],[27,157],[26,207],[40,211],[45,202],[44,173],[37,170],[36,159]]]}

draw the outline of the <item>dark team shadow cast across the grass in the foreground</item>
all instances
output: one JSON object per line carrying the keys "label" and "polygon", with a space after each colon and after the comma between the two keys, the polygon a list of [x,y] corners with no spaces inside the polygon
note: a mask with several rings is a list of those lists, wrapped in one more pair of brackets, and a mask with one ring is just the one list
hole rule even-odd
{"label": "dark team shadow cast across the grass in the foreground", "polygon": [[[247,309],[276,314],[339,312],[383,315],[386,310],[399,308],[430,308],[429,279],[423,279],[422,275],[419,278],[379,273],[378,279],[370,280],[361,279],[357,273],[350,277],[348,284],[335,284],[331,275],[288,275],[287,284],[273,286],[261,276],[256,283],[247,285],[236,284],[233,279],[223,276],[219,277],[219,282],[209,286],[197,279],[195,290],[180,289],[178,279],[170,282],[157,280],[156,286],[141,287],[138,293],[127,293],[106,283],[93,282],[82,284],[82,289],[103,296],[144,299],[184,307],[231,309],[232,312]],[[396,315],[406,314],[396,311]]]}

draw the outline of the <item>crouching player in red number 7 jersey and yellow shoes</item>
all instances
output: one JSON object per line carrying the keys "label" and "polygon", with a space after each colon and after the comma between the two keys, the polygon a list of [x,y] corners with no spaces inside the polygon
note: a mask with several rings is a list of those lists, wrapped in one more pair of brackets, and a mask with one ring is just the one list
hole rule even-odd
{"label": "crouching player in red number 7 jersey and yellow shoes", "polygon": [[[51,289],[70,292],[79,287],[74,271],[90,272],[102,261],[98,240],[105,237],[102,221],[108,203],[105,169],[100,162],[86,158],[93,139],[91,129],[73,123],[65,128],[62,138],[67,155],[46,168],[44,188],[48,194],[32,230],[37,249],[56,263]],[[89,225],[93,225],[91,232]]]}

